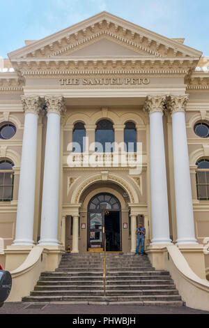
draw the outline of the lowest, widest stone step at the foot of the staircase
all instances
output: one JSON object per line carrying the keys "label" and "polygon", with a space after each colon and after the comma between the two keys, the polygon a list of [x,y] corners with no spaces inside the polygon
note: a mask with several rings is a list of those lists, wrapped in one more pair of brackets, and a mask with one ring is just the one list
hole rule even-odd
{"label": "lowest, widest stone step at the foot of the staircase", "polygon": [[30,296],[23,297],[25,302],[59,302],[59,301],[181,301],[179,295],[144,295],[144,296]]}

